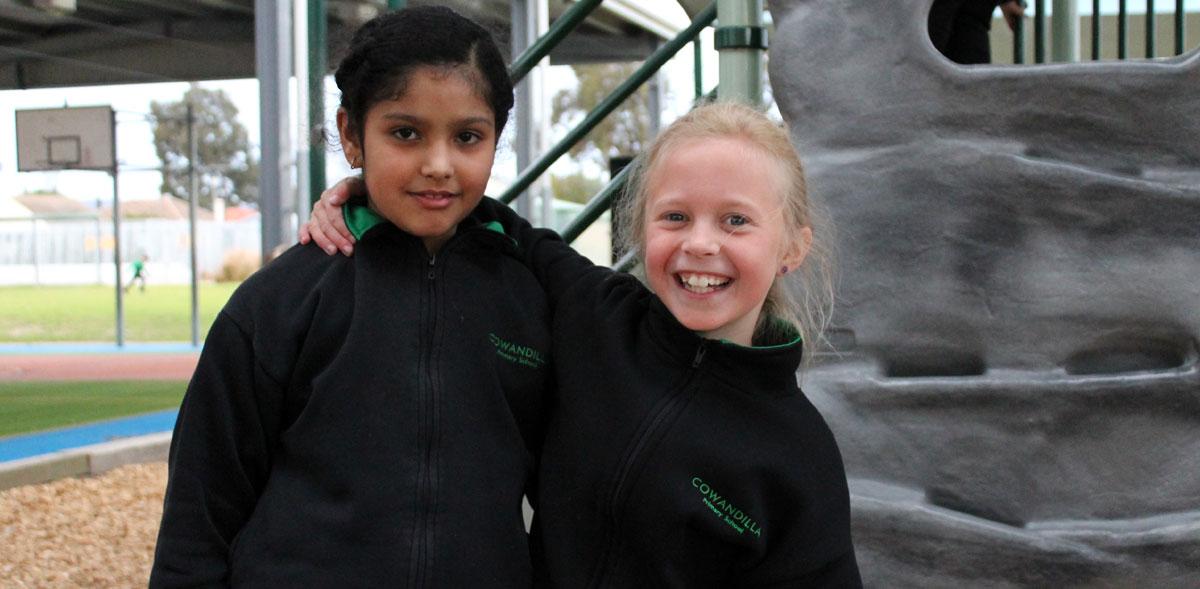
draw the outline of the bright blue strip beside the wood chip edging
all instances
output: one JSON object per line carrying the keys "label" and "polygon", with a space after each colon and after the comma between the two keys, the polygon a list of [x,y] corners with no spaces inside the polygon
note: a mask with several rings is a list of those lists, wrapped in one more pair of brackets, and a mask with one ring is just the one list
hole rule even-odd
{"label": "bright blue strip beside the wood chip edging", "polygon": [[169,409],[86,426],[0,438],[0,462],[29,458],[133,435],[169,432],[175,427],[178,414],[178,409]]}

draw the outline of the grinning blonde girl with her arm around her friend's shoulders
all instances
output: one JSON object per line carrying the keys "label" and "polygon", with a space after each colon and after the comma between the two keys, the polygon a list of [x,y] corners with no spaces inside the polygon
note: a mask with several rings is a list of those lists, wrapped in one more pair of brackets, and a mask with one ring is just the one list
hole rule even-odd
{"label": "grinning blonde girl with her arm around her friend's shoulders", "polygon": [[[552,232],[517,236],[554,306],[540,584],[860,587],[841,456],[797,386],[832,288],[786,131],[708,104],[640,166],[622,218],[653,292]],[[317,216],[344,194],[324,198]]]}

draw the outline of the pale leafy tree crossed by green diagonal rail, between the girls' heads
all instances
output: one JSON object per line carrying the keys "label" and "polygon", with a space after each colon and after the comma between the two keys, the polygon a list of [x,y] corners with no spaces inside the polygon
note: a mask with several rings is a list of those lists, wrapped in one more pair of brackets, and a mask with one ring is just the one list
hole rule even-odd
{"label": "pale leafy tree crossed by green diagonal rail, between the girls' heads", "polygon": [[[571,66],[578,84],[554,95],[551,122],[574,126],[640,66],[636,62]],[[649,143],[649,133],[650,92],[643,84],[582,142],[575,144],[570,154],[577,158],[590,158],[607,169],[610,157],[638,154]]]}

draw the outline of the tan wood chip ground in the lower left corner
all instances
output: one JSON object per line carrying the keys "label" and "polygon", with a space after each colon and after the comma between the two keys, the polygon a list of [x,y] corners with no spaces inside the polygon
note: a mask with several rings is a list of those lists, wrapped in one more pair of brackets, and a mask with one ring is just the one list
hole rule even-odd
{"label": "tan wood chip ground in the lower left corner", "polygon": [[0,588],[144,588],[167,463],[0,492]]}

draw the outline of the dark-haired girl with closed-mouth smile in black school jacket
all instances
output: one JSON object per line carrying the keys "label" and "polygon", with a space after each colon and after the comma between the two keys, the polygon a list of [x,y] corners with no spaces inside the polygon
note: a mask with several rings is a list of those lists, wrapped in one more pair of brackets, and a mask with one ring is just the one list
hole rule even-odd
{"label": "dark-haired girl with closed-mouth smile in black school jacket", "polygon": [[368,192],[358,256],[293,247],[212,324],[150,585],[529,587],[551,339],[506,208],[484,198],[504,60],[474,22],[418,6],[364,24],[336,82]]}

